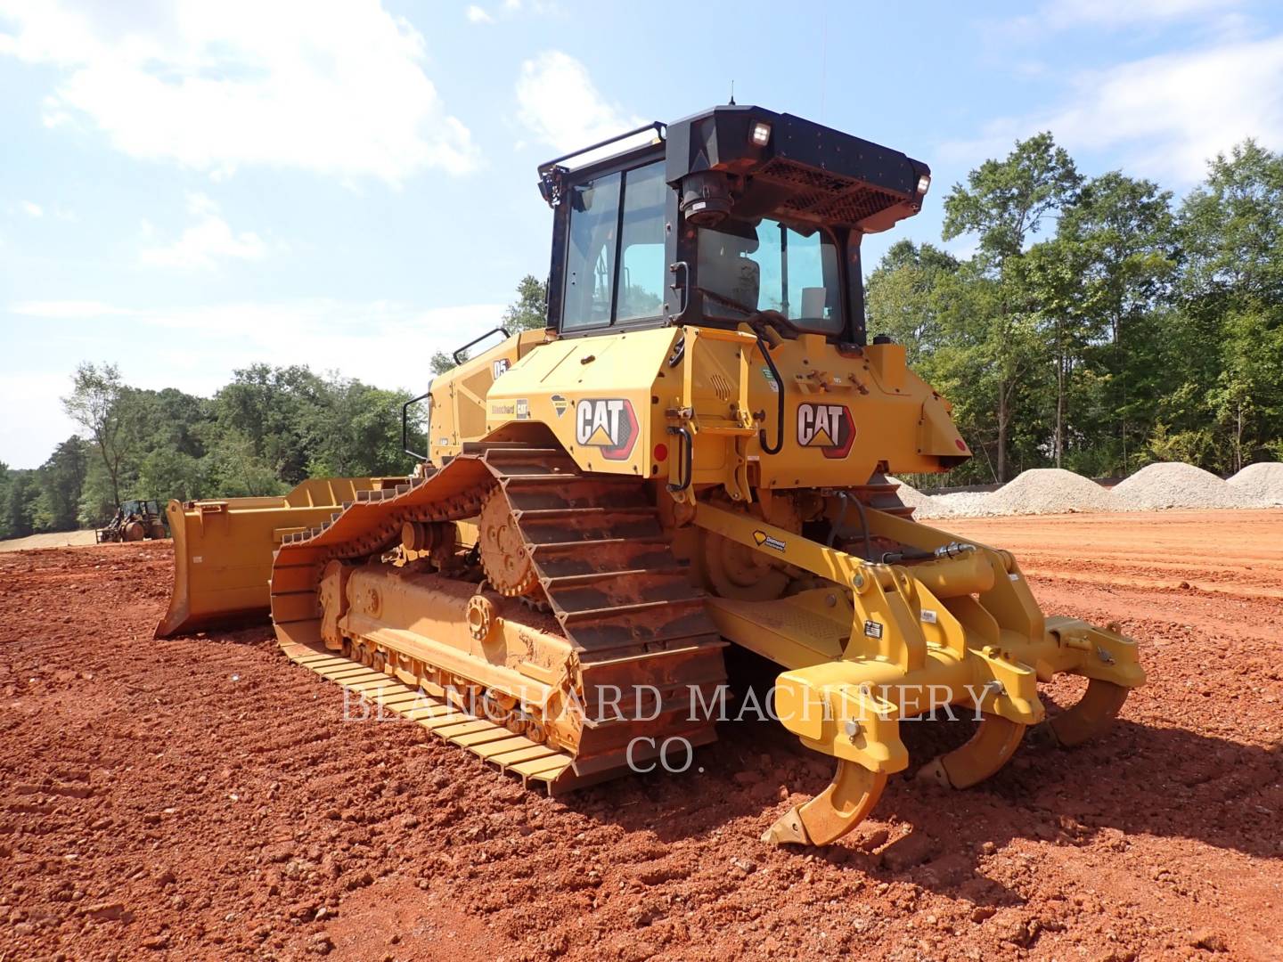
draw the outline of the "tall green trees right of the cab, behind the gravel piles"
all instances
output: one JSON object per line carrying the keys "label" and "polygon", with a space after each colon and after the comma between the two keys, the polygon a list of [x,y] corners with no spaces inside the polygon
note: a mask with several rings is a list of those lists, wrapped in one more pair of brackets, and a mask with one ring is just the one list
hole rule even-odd
{"label": "tall green trees right of the cab, behind the gravel piles", "polygon": [[1283,156],[1247,140],[1174,203],[1039,133],[953,187],[955,239],[896,244],[866,296],[975,450],[948,484],[1283,459]]}

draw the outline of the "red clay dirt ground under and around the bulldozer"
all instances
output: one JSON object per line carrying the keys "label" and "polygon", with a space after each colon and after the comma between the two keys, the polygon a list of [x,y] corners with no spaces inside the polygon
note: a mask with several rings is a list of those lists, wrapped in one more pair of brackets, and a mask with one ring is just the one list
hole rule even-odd
{"label": "red clay dirt ground under and around the bulldozer", "polygon": [[[1151,682],[817,852],[758,841],[830,775],[770,722],[549,799],[345,722],[269,629],[153,641],[167,543],[0,555],[0,959],[1283,958],[1283,512],[952,527]],[[916,766],[967,725],[905,727]]]}

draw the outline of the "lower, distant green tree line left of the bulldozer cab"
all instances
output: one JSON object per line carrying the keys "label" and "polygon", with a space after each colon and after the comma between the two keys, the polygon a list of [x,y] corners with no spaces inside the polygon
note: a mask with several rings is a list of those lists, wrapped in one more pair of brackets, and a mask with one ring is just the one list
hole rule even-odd
{"label": "lower, distant green tree line left of the bulldozer cab", "polygon": [[[544,326],[547,289],[522,278],[509,330]],[[430,359],[440,373],[445,354]],[[0,463],[0,539],[105,525],[122,502],[277,495],[307,477],[395,476],[411,395],[305,366],[254,364],[213,398],[133,387],[115,364],[83,363],[63,408],[80,425],[38,468]],[[409,448],[422,450],[422,426]]]}

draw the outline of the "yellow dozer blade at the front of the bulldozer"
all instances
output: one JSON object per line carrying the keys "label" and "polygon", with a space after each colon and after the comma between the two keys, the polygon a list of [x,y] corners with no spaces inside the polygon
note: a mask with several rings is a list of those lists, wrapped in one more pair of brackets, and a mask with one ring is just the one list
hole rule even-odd
{"label": "yellow dozer blade at the front of the bulldozer", "polygon": [[398,482],[404,478],[309,478],[278,498],[169,502],[173,595],[155,637],[266,621],[272,554],[285,535],[328,521],[358,491]]}

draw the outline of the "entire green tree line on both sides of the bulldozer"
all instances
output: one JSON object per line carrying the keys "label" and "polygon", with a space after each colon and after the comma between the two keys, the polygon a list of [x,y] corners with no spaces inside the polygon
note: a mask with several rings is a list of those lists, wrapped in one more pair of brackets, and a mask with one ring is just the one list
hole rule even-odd
{"label": "entire green tree line on both sides of the bulldozer", "polygon": [[[1283,459],[1283,155],[1247,140],[1175,203],[1120,171],[1084,177],[1038,133],[955,185],[953,240],[973,253],[899,241],[866,290],[870,332],[905,344],[976,453],[951,484]],[[504,326],[541,327],[545,301],[547,283],[522,278]],[[405,400],[307,367],[255,364],[198,398],[82,364],[64,399],[82,430],[40,468],[0,463],[0,537],[101,525],[131,498],[404,473]]]}

